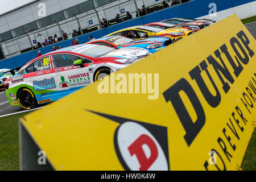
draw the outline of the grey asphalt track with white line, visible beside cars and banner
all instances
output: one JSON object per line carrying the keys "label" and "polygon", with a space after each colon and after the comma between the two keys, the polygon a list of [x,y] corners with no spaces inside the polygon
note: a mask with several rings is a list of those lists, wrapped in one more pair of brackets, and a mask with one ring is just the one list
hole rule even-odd
{"label": "grey asphalt track with white line, visible beside cars and banner", "polygon": [[[245,24],[245,27],[251,32],[251,34],[256,39],[256,22]],[[36,109],[41,109],[42,107],[46,107],[46,105],[42,105],[41,107],[38,107]],[[11,106],[9,104],[9,101],[6,97],[6,92],[2,91],[0,92],[0,118],[6,117],[8,115],[18,114],[18,113],[24,113],[27,110],[22,109],[20,106]]]}

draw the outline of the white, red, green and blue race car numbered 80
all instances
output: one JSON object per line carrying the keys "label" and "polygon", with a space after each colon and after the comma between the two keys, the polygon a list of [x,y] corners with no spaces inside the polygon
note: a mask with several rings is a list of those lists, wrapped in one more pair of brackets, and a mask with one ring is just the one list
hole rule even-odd
{"label": "white, red, green and blue race car numbered 80", "polygon": [[5,81],[11,105],[26,110],[59,100],[150,55],[143,48],[115,49],[81,44],[58,49],[31,60]]}

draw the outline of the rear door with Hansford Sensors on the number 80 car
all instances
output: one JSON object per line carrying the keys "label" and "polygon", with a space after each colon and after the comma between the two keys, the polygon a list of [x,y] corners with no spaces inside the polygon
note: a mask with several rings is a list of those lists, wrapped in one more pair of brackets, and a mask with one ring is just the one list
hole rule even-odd
{"label": "rear door with Hansford Sensors on the number 80 car", "polygon": [[28,89],[36,96],[39,104],[42,100],[51,100],[51,93],[57,91],[56,81],[52,73],[51,57],[40,58],[25,68],[23,79]]}

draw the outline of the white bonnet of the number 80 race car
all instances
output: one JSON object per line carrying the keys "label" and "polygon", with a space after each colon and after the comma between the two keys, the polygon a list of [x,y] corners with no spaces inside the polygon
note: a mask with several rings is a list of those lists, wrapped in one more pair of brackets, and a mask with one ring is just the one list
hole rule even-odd
{"label": "white bonnet of the number 80 race car", "polygon": [[121,59],[126,59],[126,58],[133,58],[133,57],[146,57],[147,55],[150,55],[150,52],[147,49],[126,47],[126,48],[117,49],[102,57],[117,57]]}

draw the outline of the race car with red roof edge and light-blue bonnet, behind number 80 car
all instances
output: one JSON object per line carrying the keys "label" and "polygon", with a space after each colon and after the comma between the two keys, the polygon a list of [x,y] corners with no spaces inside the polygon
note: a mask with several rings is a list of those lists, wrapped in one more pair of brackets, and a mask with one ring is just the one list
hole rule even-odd
{"label": "race car with red roof edge and light-blue bonnet, behind number 80 car", "polygon": [[124,36],[113,35],[87,42],[86,44],[98,44],[102,46],[108,46],[115,49],[122,47],[141,47],[148,49],[150,53],[154,53],[169,46],[172,43],[170,38],[163,36],[152,36],[145,39],[134,41],[133,39],[126,38]]}

